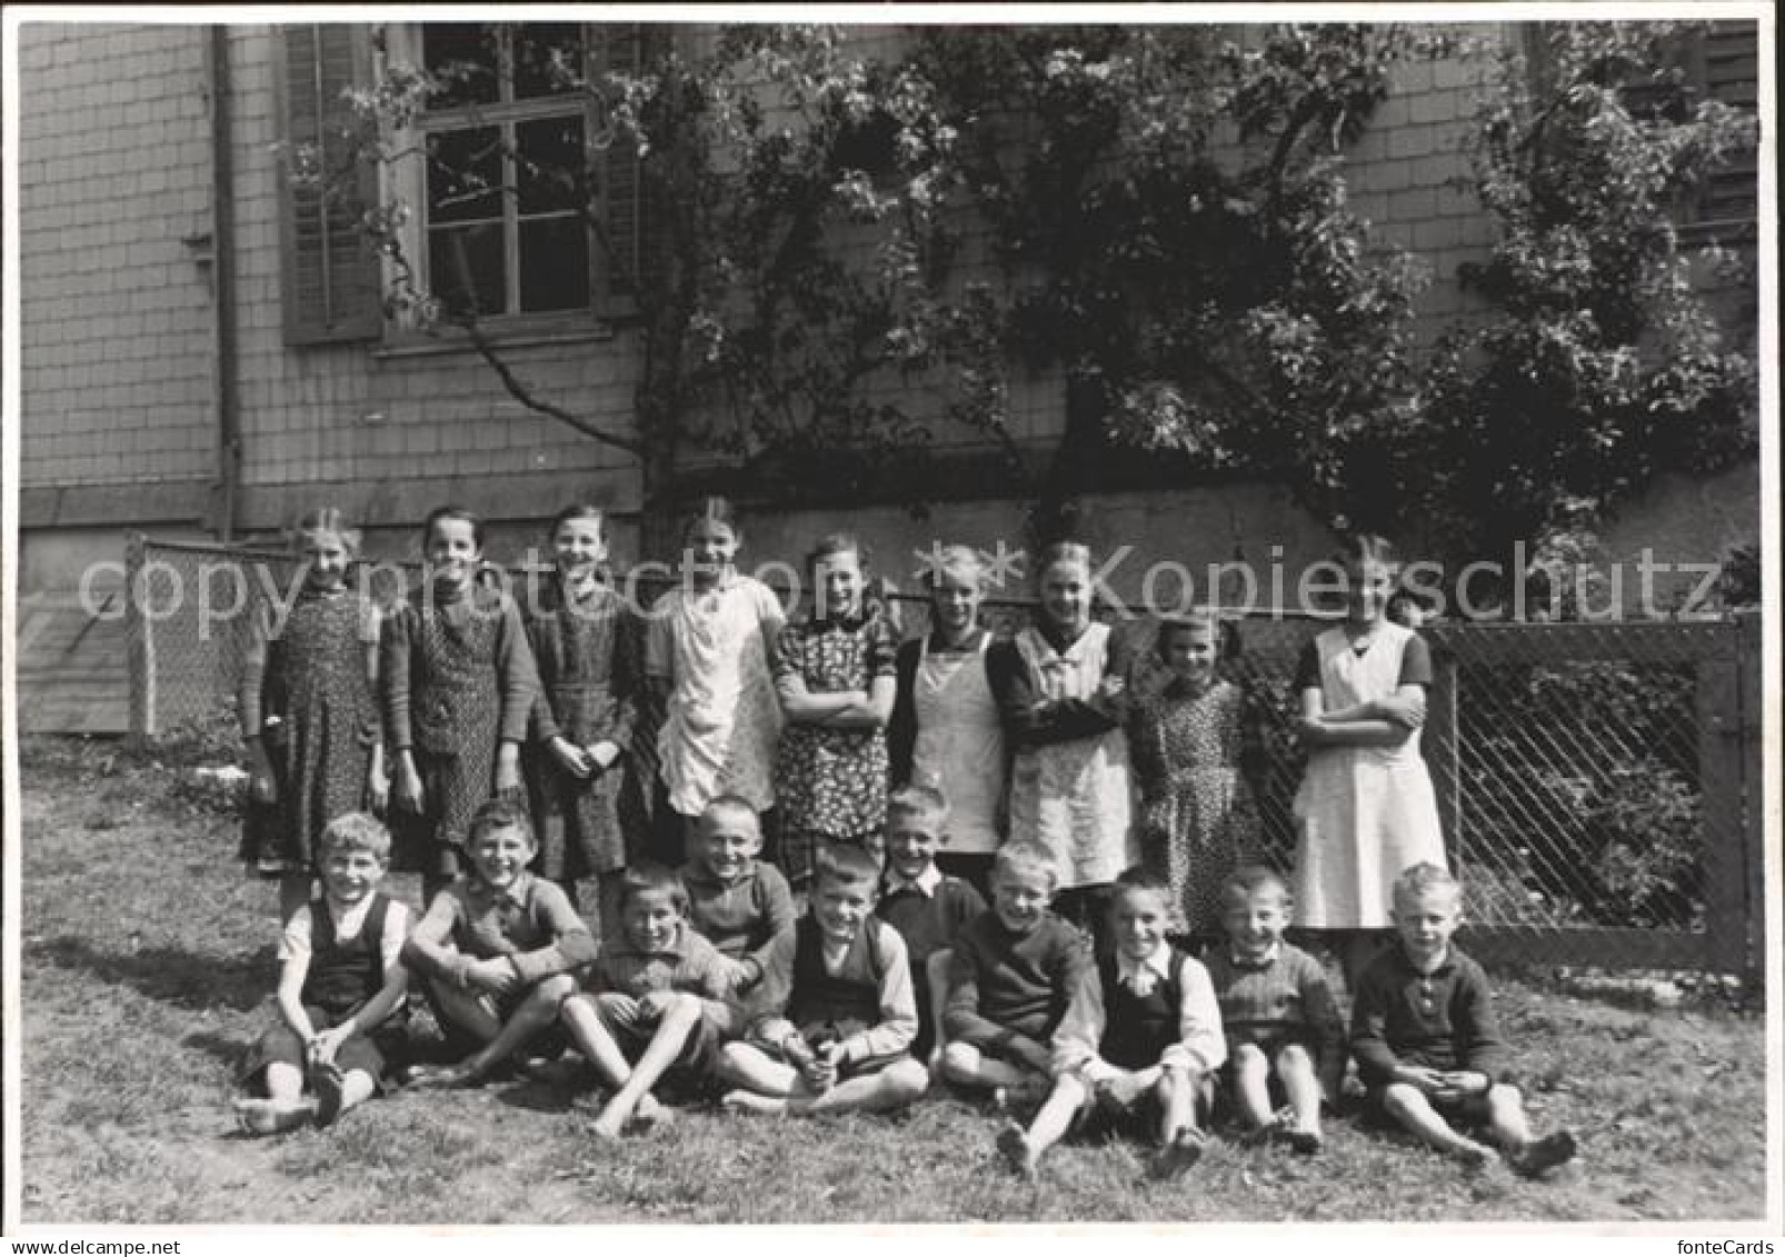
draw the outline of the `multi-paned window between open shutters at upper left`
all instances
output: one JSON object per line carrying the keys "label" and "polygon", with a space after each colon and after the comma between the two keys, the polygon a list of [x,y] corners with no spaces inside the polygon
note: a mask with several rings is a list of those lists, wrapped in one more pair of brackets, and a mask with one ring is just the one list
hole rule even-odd
{"label": "multi-paned window between open shutters at upper left", "polygon": [[[637,161],[603,141],[602,75],[637,70],[641,27],[427,23],[393,55],[439,87],[412,123],[412,257],[448,318],[619,314],[641,255]],[[600,246],[589,218],[612,241]]]}

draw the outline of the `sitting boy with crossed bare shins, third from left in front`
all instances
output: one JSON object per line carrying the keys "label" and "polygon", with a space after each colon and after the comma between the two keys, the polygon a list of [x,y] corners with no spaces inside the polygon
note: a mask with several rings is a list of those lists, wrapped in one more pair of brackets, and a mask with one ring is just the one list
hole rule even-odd
{"label": "sitting boy with crossed bare shins, third from left in front", "polygon": [[669,870],[628,868],[618,912],[619,930],[594,962],[593,993],[573,995],[559,1012],[577,1050],[614,1087],[594,1121],[602,1139],[618,1139],[628,1121],[650,1127],[668,1116],[652,1087],[671,1068],[694,1075],[710,1068],[709,1009],[732,986],[732,966],[689,928],[687,889]]}

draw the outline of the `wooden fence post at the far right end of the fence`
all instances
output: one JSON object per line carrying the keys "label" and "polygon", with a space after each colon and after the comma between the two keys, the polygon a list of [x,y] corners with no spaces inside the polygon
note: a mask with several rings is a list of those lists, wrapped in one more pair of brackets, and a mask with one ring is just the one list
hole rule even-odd
{"label": "wooden fence post at the far right end of the fence", "polygon": [[1740,628],[1733,620],[1705,625],[1710,641],[1698,661],[1698,789],[1705,861],[1706,966],[1744,973],[1749,953],[1746,828],[1742,816]]}

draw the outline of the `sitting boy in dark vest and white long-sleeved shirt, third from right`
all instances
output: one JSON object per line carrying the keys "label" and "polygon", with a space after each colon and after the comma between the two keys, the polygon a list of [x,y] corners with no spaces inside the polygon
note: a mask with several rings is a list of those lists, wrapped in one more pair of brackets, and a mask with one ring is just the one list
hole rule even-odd
{"label": "sitting boy in dark vest and white long-sleeved shirt, third from right", "polygon": [[1010,1123],[998,1150],[1023,1177],[1080,1121],[1150,1123],[1153,1173],[1178,1175],[1203,1155],[1201,1123],[1226,1059],[1216,993],[1201,962],[1166,941],[1171,886],[1130,868],[1110,898],[1116,952],[1100,957],[1055,1036],[1055,1080],[1028,1130]]}

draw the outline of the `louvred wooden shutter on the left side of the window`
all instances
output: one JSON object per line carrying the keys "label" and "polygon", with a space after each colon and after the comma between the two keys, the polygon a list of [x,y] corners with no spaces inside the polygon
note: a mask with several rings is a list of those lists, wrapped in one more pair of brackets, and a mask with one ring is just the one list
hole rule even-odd
{"label": "louvred wooden shutter on the left side of the window", "polygon": [[[384,332],[378,255],[359,221],[377,205],[377,171],[357,159],[357,120],[343,93],[371,80],[371,30],[278,29],[280,252],[286,345],[377,339]],[[298,152],[320,179],[295,180]]]}

